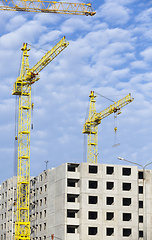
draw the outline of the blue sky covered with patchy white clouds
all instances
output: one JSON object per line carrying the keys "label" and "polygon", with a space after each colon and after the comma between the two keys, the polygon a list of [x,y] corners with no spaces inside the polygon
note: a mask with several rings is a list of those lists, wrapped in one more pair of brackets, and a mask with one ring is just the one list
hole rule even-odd
{"label": "blue sky covered with patchy white clouds", "polygon": [[[15,97],[20,48],[30,51],[32,67],[64,35],[70,45],[41,73],[33,87],[31,175],[65,162],[84,161],[82,128],[89,93],[113,100],[129,92],[134,101],[122,109],[114,135],[114,116],[99,126],[100,163],[120,164],[117,156],[152,161],[152,4],[140,0],[91,1],[96,15],[0,13],[0,182],[14,169]],[[97,111],[111,102],[98,96]],[[118,147],[112,147],[120,143]]]}

